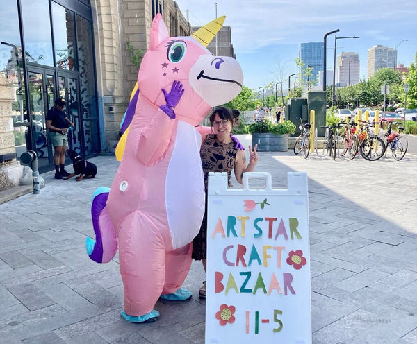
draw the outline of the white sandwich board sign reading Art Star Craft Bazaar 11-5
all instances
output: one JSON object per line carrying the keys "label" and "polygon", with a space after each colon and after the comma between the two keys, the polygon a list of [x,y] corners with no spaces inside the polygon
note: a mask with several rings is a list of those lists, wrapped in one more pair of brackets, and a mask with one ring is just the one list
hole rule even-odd
{"label": "white sandwich board sign reading Art Star Craft Bazaar 11-5", "polygon": [[[249,180],[263,179],[261,188]],[[311,344],[306,173],[208,176],[206,344]]]}

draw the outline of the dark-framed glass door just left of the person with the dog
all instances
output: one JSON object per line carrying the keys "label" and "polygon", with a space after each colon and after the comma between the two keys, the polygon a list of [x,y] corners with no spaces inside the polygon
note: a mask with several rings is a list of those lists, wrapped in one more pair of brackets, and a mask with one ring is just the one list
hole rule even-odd
{"label": "dark-framed glass door just left of the person with the dog", "polygon": [[31,110],[32,142],[26,132],[28,148],[38,155],[38,165],[47,166],[53,162],[53,152],[47,137],[45,117],[50,107],[54,106],[54,74],[44,69],[28,68],[29,107]]}

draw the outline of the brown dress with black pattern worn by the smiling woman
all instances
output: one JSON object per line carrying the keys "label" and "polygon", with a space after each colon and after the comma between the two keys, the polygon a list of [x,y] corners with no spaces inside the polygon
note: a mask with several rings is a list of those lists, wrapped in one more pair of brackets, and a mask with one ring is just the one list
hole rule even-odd
{"label": "brown dress with black pattern worn by the smiling woman", "polygon": [[193,240],[193,259],[206,259],[207,249],[207,184],[208,172],[227,172],[227,181],[230,184],[231,171],[234,170],[236,162],[237,150],[234,148],[235,143],[231,141],[229,144],[222,144],[217,139],[217,135],[207,135],[200,148],[200,156],[202,158],[204,173],[204,188],[206,190],[206,212],[202,227]]}

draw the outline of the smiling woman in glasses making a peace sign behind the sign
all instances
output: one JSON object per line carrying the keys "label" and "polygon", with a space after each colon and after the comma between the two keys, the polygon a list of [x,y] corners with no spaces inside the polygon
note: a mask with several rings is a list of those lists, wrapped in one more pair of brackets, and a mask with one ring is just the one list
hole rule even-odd
{"label": "smiling woman in glasses making a peace sign behind the sign", "polygon": [[[234,125],[235,117],[227,107],[217,107],[210,116],[214,134],[206,134],[202,139],[200,157],[202,159],[204,173],[204,190],[207,194],[208,172],[227,172],[227,180],[231,186],[231,171],[234,171],[236,180],[242,184],[243,173],[253,172],[258,162],[256,153],[257,144],[249,146],[249,164],[246,164],[245,152],[236,148],[231,139],[230,132]],[[201,260],[206,271],[206,236],[207,236],[207,200],[204,218],[199,233],[193,240],[193,259]],[[206,297],[206,282],[199,289],[199,297]]]}

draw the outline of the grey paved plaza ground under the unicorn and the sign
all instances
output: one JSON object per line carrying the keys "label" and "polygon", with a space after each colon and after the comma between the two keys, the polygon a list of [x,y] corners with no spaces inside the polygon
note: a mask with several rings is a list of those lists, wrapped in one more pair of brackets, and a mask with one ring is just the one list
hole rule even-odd
{"label": "grey paved plaza ground under the unicorn and the sign", "polygon": [[[288,171],[308,173],[313,343],[417,343],[417,157],[259,156],[273,187],[286,188]],[[193,299],[159,301],[153,323],[120,318],[117,259],[95,264],[84,248],[92,193],[110,186],[118,163],[90,161],[95,179],[45,173],[40,194],[0,205],[0,343],[204,343],[199,262],[184,285]]]}

